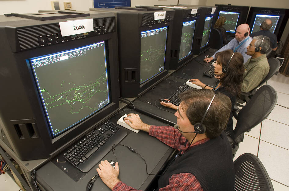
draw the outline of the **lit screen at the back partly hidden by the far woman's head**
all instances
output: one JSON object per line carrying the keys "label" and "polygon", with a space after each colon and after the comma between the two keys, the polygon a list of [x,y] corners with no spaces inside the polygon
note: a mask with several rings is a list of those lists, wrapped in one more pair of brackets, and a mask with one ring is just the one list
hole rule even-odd
{"label": "lit screen at the back partly hidden by the far woman's head", "polygon": [[239,12],[226,12],[226,11],[219,12],[219,17],[223,16],[226,18],[226,22],[224,25],[226,32],[235,33],[239,15],[240,15]]}

